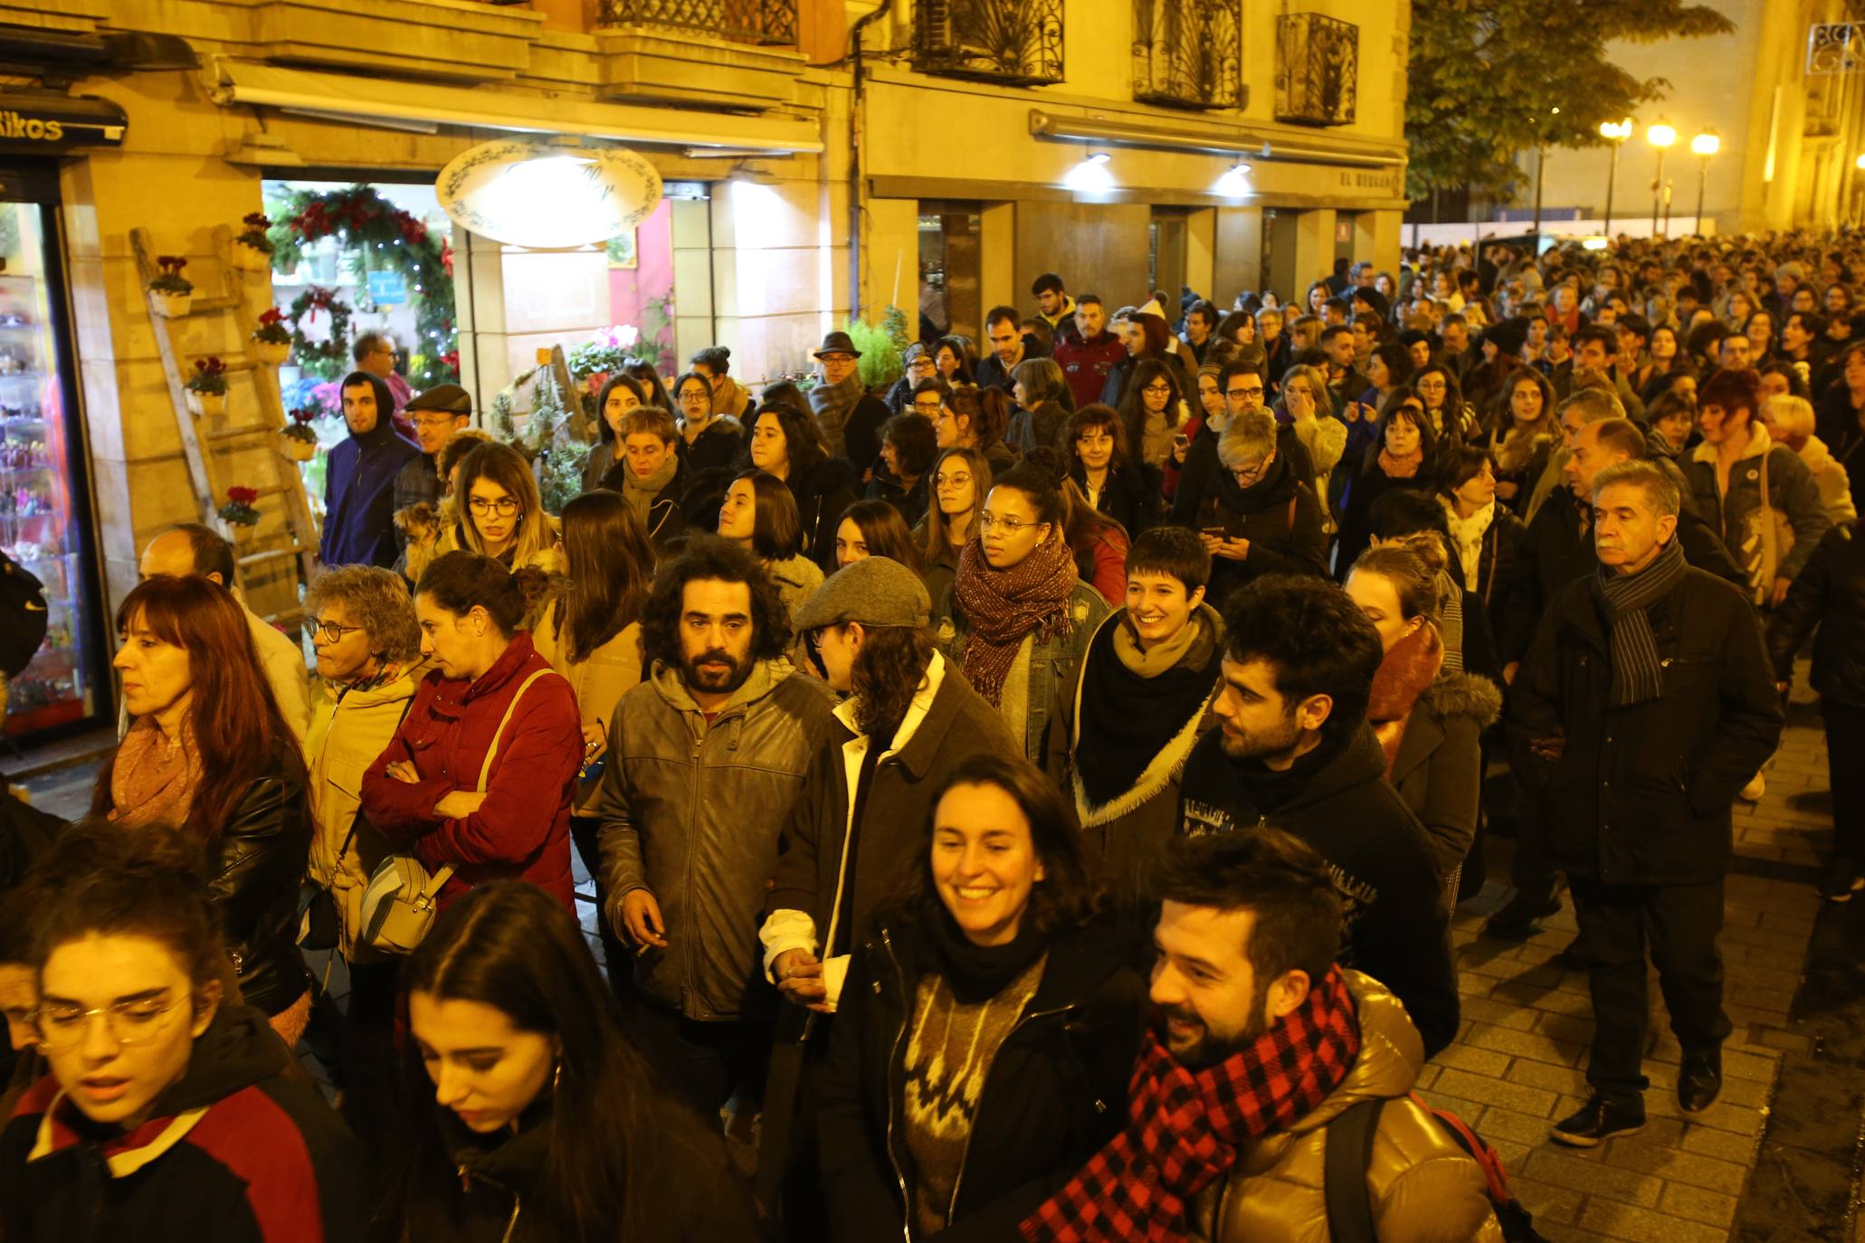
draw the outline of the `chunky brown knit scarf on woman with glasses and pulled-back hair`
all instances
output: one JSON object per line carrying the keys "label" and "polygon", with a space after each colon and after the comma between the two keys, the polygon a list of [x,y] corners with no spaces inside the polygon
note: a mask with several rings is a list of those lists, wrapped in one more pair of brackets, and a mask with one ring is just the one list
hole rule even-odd
{"label": "chunky brown knit scarf on woman with glasses and pulled-back hair", "polygon": [[1024,635],[1037,632],[1048,637],[1067,630],[1069,593],[1080,578],[1059,527],[1052,527],[1046,542],[1007,570],[990,568],[985,546],[966,540],[951,585],[972,630],[959,667],[992,708],[1003,699],[1003,680],[1011,676]]}

